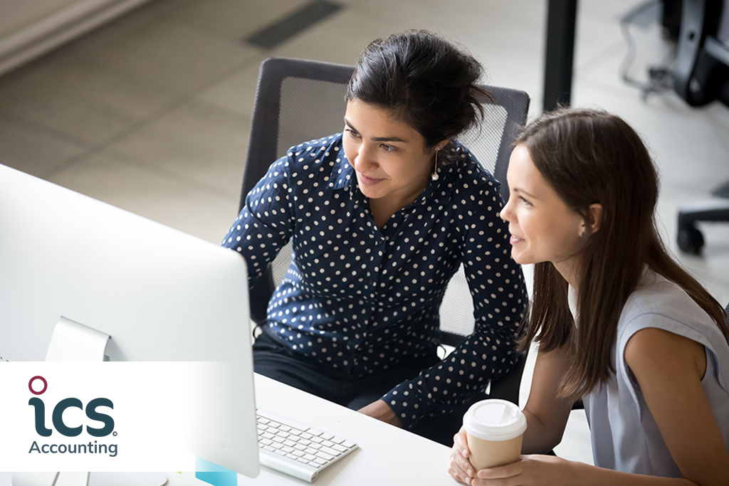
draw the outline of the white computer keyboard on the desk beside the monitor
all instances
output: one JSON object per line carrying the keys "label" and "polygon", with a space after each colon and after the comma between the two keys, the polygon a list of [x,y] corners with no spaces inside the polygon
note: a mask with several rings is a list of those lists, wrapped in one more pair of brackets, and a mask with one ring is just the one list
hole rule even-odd
{"label": "white computer keyboard on the desk beside the monitor", "polygon": [[306,482],[359,446],[264,410],[258,410],[261,465]]}

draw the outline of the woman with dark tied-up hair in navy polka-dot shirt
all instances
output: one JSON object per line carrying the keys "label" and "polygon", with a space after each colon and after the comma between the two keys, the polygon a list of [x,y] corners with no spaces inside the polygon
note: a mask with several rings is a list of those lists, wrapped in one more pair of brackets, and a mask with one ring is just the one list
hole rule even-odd
{"label": "woman with dark tied-up hair in navy polka-dot shirt", "polygon": [[[254,344],[257,372],[413,428],[514,363],[521,267],[498,183],[456,141],[479,122],[481,73],[425,31],[375,40],[349,82],[343,133],[292,147],[246,197],[222,244],[246,257],[250,286],[289,240],[293,251]],[[440,302],[461,264],[475,332],[440,361]]]}

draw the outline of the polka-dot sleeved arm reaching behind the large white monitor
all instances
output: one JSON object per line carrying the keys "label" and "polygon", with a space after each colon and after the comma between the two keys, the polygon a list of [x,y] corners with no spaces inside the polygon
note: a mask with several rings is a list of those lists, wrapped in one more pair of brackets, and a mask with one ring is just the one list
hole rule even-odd
{"label": "polka-dot sleeved arm reaching behind the large white monitor", "polygon": [[290,163],[289,157],[273,162],[268,173],[246,195],[246,204],[221,243],[246,259],[250,288],[294,231],[294,206],[288,190]]}

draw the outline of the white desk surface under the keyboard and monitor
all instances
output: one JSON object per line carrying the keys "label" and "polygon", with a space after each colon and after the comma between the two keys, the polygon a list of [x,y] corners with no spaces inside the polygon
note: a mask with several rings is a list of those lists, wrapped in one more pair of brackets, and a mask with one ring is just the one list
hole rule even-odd
{"label": "white desk surface under the keyboard and monitor", "polygon": [[[261,409],[331,432],[359,444],[359,450],[319,474],[317,486],[445,485],[456,482],[446,471],[450,449],[354,410],[256,375],[256,402]],[[11,473],[0,473],[10,486]],[[204,486],[192,473],[168,473],[168,486]],[[301,486],[308,483],[261,469],[255,479],[238,474],[238,485]]]}

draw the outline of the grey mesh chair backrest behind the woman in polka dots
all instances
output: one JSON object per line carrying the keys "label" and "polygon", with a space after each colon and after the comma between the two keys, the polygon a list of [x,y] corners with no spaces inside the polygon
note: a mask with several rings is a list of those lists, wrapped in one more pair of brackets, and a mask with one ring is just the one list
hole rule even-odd
{"label": "grey mesh chair backrest behind the woman in polka dots", "polygon": [[[354,66],[313,60],[269,58],[261,64],[256,90],[251,137],[243,173],[241,205],[268,166],[286,154],[290,146],[338,133],[343,128],[347,83]],[[486,87],[493,101],[484,100],[486,117],[479,128],[460,137],[486,170],[505,184],[511,142],[518,125],[526,121],[529,95],[502,87]],[[281,250],[270,269],[251,291],[251,317],[266,320],[268,300],[284,278],[291,262],[290,246]],[[443,342],[457,345],[473,332],[473,304],[468,283],[459,269],[453,276],[440,307]]]}

